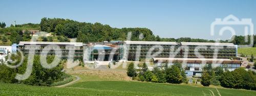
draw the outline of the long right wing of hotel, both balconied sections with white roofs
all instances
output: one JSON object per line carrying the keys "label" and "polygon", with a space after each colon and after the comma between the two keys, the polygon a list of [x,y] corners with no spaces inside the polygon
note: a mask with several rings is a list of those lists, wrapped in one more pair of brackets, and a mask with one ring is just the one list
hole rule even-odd
{"label": "long right wing of hotel, both balconied sections with white roofs", "polygon": [[[155,46],[155,47],[154,47]],[[123,59],[175,57],[175,58],[229,58],[237,57],[237,45],[232,43],[151,42],[124,41]],[[152,51],[151,53],[149,53]],[[157,53],[155,56],[153,54]]]}

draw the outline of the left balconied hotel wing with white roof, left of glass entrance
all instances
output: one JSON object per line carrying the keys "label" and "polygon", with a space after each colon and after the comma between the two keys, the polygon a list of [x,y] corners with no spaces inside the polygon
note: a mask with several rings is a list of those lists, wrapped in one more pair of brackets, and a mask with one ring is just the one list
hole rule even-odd
{"label": "left balconied hotel wing with white roof, left of glass entrance", "polygon": [[83,44],[74,42],[19,42],[18,49],[28,54],[57,55],[62,59],[83,57]]}

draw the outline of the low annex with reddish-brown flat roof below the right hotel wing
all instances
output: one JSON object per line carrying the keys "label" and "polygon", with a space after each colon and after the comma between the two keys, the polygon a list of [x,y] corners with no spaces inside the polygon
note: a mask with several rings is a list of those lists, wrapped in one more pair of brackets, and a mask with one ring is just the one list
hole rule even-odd
{"label": "low annex with reddish-brown flat roof below the right hotel wing", "polygon": [[211,64],[212,67],[222,67],[223,70],[233,71],[241,67],[242,60],[231,60],[231,59],[220,59],[220,58],[153,58],[154,64],[158,67],[163,66],[165,63],[168,66],[174,65],[174,63],[182,63],[183,68],[185,68],[185,73],[187,76],[201,76],[203,67],[205,65]]}

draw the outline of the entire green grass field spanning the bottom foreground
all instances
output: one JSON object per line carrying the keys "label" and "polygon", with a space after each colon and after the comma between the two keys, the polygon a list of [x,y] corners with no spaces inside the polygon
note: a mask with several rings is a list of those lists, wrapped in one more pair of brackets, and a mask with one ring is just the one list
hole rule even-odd
{"label": "entire green grass field spanning the bottom foreground", "polygon": [[[210,90],[218,95],[216,89],[208,87],[130,81],[89,81],[67,88],[4,83],[0,83],[0,86],[0,95],[203,95],[203,92],[210,95]],[[256,94],[256,91],[250,90],[218,90],[221,95]]]}

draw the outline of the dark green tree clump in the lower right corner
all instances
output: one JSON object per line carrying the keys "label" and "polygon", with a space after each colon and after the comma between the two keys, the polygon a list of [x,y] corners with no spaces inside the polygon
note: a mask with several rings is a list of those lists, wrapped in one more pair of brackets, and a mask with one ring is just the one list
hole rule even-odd
{"label": "dark green tree clump in the lower right corner", "polygon": [[238,68],[229,71],[226,67],[212,68],[209,63],[203,67],[201,84],[203,86],[221,85],[226,88],[256,90],[256,73]]}

